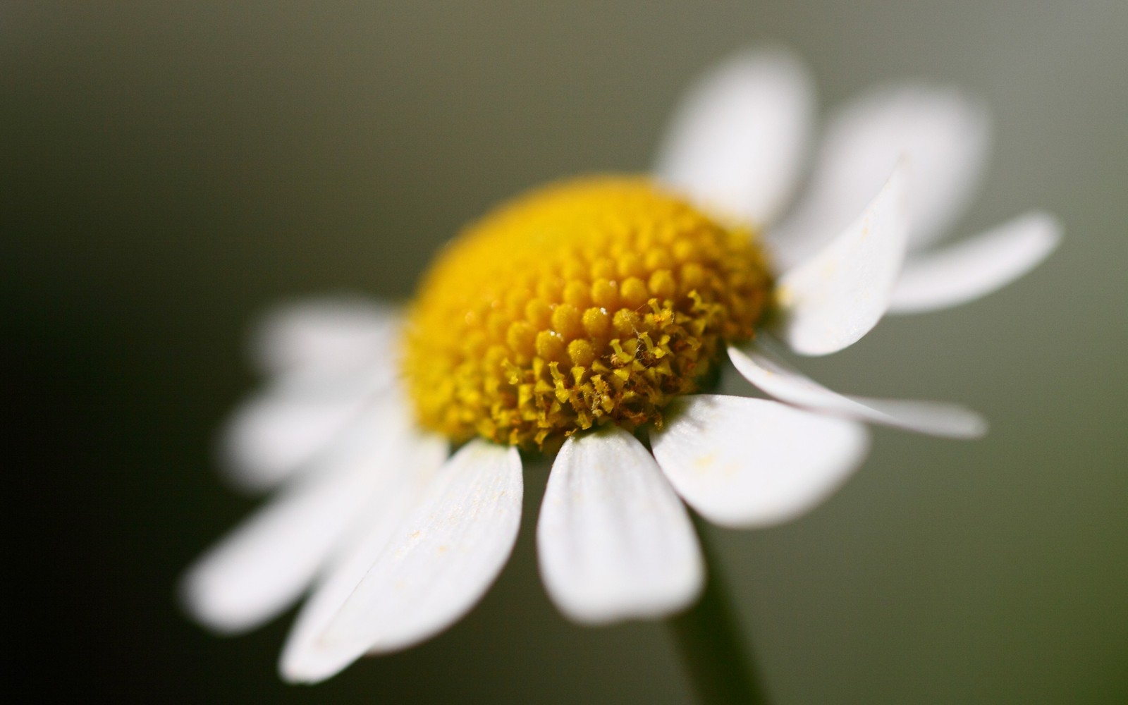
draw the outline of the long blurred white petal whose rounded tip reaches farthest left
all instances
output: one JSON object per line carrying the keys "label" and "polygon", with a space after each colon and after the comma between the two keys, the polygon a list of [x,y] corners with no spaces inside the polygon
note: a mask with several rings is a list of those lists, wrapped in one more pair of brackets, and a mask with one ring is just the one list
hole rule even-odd
{"label": "long blurred white petal whose rounded tip reaches farthest left", "polygon": [[405,446],[426,452],[423,441],[408,443],[407,418],[400,416],[367,415],[318,473],[288,487],[205,554],[184,583],[191,611],[220,632],[241,632],[289,607],[372,493],[402,470],[389,458]]}

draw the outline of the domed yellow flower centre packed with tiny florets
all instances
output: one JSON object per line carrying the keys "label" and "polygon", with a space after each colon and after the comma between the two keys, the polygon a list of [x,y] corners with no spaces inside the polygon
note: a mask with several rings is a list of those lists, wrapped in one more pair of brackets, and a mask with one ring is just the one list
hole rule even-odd
{"label": "domed yellow flower centre packed with tiny florets", "polygon": [[411,309],[404,371],[418,421],[555,448],[606,423],[661,425],[770,293],[754,233],[645,178],[532,191],[465,229]]}

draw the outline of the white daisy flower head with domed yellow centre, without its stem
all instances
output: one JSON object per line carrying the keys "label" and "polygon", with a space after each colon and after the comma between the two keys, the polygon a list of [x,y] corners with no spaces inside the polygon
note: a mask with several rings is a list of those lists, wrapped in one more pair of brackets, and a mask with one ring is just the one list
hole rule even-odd
{"label": "white daisy flower head with domed yellow centre, without its stem", "polygon": [[[962,303],[1056,245],[1032,212],[937,245],[979,180],[984,108],[919,85],[814,124],[812,82],[766,49],[708,73],[651,176],[531,191],[452,240],[405,308],[321,299],[254,338],[266,387],[226,466],[275,495],[188,572],[191,613],[253,628],[307,591],[282,676],[318,681],[465,615],[520,523],[519,449],[554,457],[540,572],[569,618],[658,618],[700,593],[688,504],[726,527],[817,505],[857,468],[865,422],[955,438],[959,406],[841,395],[781,354],[823,355],[885,312]],[[773,399],[705,394],[728,356]]]}

